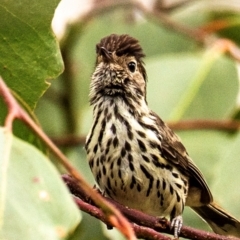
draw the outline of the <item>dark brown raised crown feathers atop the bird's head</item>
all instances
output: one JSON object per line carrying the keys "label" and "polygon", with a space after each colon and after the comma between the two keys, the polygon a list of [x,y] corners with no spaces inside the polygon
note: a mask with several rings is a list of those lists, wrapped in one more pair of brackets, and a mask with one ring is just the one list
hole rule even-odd
{"label": "dark brown raised crown feathers atop the bird's head", "polygon": [[101,55],[101,48],[105,48],[109,53],[115,52],[117,56],[134,56],[140,64],[139,69],[146,80],[146,70],[143,66],[142,58],[145,57],[139,41],[127,34],[111,34],[102,38],[96,46],[96,52]]}

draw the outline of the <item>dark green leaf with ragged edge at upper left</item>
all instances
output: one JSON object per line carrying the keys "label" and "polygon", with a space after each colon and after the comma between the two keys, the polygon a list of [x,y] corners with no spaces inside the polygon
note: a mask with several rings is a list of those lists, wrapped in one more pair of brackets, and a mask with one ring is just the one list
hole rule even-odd
{"label": "dark green leaf with ragged edge at upper left", "polygon": [[0,75],[33,109],[63,69],[51,20],[58,0],[2,0],[0,3]]}

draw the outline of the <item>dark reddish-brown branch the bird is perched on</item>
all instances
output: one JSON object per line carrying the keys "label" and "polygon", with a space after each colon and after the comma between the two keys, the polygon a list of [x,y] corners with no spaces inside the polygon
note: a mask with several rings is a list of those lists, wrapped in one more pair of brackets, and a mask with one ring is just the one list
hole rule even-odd
{"label": "dark reddish-brown branch the bird is perched on", "polygon": [[[62,175],[62,178],[68,186],[70,192],[74,194],[75,202],[80,209],[100,219],[107,225],[110,225],[109,222],[105,221],[105,218],[101,214],[101,210],[98,209],[91,201],[89,201],[89,196],[82,191],[82,189],[75,183],[72,177],[68,175]],[[105,199],[108,202],[112,203],[117,209],[119,209],[119,211],[123,213],[124,216],[129,219],[129,221],[133,223],[133,228],[136,230],[135,233],[137,237],[144,237],[145,239],[169,239],[166,238],[166,236],[162,236],[162,234],[158,235],[159,232],[172,234],[170,223],[165,218],[153,217],[135,209],[130,209],[126,206],[123,206],[110,198]],[[156,236],[156,238],[151,238],[152,234],[154,234],[153,236]],[[238,238],[225,237],[215,233],[197,230],[185,226],[183,226],[181,229],[180,237],[201,240],[239,240]]]}

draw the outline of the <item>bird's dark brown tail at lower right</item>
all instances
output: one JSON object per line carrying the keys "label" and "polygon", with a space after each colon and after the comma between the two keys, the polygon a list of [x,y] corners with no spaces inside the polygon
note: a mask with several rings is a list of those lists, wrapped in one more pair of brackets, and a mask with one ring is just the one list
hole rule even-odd
{"label": "bird's dark brown tail at lower right", "polygon": [[192,207],[212,228],[215,233],[240,238],[240,222],[226,213],[215,203]]}

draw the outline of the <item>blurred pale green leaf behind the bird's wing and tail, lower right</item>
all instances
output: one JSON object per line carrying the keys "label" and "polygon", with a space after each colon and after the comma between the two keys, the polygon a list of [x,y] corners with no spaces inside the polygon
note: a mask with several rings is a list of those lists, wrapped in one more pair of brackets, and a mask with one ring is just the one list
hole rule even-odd
{"label": "blurred pale green leaf behind the bird's wing and tail, lower right", "polygon": [[[236,186],[240,181],[237,174],[240,167],[238,161],[240,152],[237,150],[240,135],[238,141],[234,141],[234,145],[232,142],[235,137],[220,131],[181,131],[179,135],[190,157],[203,173],[214,200],[227,212],[239,218],[240,208],[237,206],[240,196]],[[235,153],[229,156],[230,152],[234,152],[233,146]],[[189,207],[184,209],[184,224],[210,230]]]}

